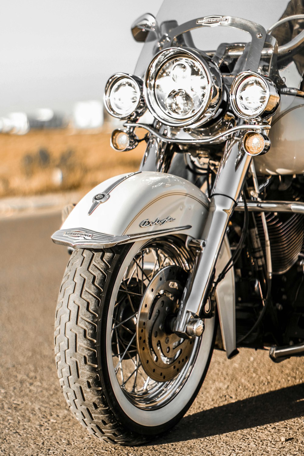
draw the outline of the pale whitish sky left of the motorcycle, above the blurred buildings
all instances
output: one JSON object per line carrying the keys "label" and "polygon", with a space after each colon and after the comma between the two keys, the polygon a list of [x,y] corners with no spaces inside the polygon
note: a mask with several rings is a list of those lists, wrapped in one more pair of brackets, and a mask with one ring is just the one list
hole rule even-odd
{"label": "pale whitish sky left of the motorcycle, above the blurred buildings", "polygon": [[133,73],[130,27],[161,0],[0,0],[0,115],[103,98],[109,76]]}

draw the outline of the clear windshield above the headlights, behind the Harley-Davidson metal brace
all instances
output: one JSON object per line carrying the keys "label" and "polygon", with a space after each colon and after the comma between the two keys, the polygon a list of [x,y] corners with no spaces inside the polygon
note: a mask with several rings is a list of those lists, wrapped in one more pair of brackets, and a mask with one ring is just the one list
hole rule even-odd
{"label": "clear windshield above the headlights, behind the Harley-Davidson metal brace", "polygon": [[[247,60],[240,57],[240,62],[235,66],[237,71],[252,70],[254,68],[257,56],[254,53],[258,52],[258,40],[256,34],[248,33],[248,31],[240,30],[227,26],[223,20],[215,21],[212,26],[204,26],[199,24],[200,18],[206,16],[232,16],[242,18],[247,21],[254,22],[264,27],[267,31],[273,24],[286,16],[294,14],[304,14],[304,0],[165,0],[156,16],[157,26],[159,28],[158,36],[150,32],[147,41],[144,44],[140,54],[139,61],[136,66],[135,74],[140,77],[144,73],[152,60],[152,57],[159,52],[162,46],[162,40],[170,41],[170,46],[195,46],[201,51],[210,53],[220,49],[223,43],[240,44],[242,49],[245,49],[252,59],[247,57]],[[184,44],[180,44],[180,39],[173,39],[173,30],[178,26],[182,26],[188,21],[193,21],[198,28],[188,31],[183,35]],[[206,19],[204,19],[206,21]],[[209,20],[210,21],[210,20]],[[219,25],[221,24],[221,25]],[[200,26],[202,25],[202,26]],[[183,28],[183,27],[181,27]],[[185,29],[190,27],[185,27]],[[278,46],[283,46],[304,30],[304,19],[287,21],[276,27],[271,35],[278,41]],[[258,30],[257,30],[258,31]],[[166,38],[167,36],[167,38]],[[164,41],[163,41],[164,42]],[[267,47],[267,44],[264,46]],[[260,54],[262,49],[259,49]],[[260,56],[261,57],[261,56]],[[255,60],[254,60],[255,58]],[[252,63],[253,62],[253,63]],[[247,67],[246,67],[247,66]],[[248,67],[249,66],[249,67]],[[250,67],[251,66],[251,67]],[[253,66],[253,67],[252,67]],[[303,89],[302,76],[304,71],[304,49],[301,47],[296,52],[292,52],[287,58],[278,58],[277,65],[278,76],[281,79],[281,85],[285,88]],[[288,104],[293,102],[293,96],[288,97]],[[285,103],[286,106],[286,103]]]}

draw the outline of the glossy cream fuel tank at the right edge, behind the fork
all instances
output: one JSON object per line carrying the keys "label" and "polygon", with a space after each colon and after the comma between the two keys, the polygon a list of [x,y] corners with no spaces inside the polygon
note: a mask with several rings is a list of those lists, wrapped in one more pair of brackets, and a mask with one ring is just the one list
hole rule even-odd
{"label": "glossy cream fuel tank at the right edge, behind the fork", "polygon": [[296,96],[289,104],[290,96],[281,95],[281,109],[273,116],[269,152],[254,159],[258,174],[304,173],[304,97]]}

